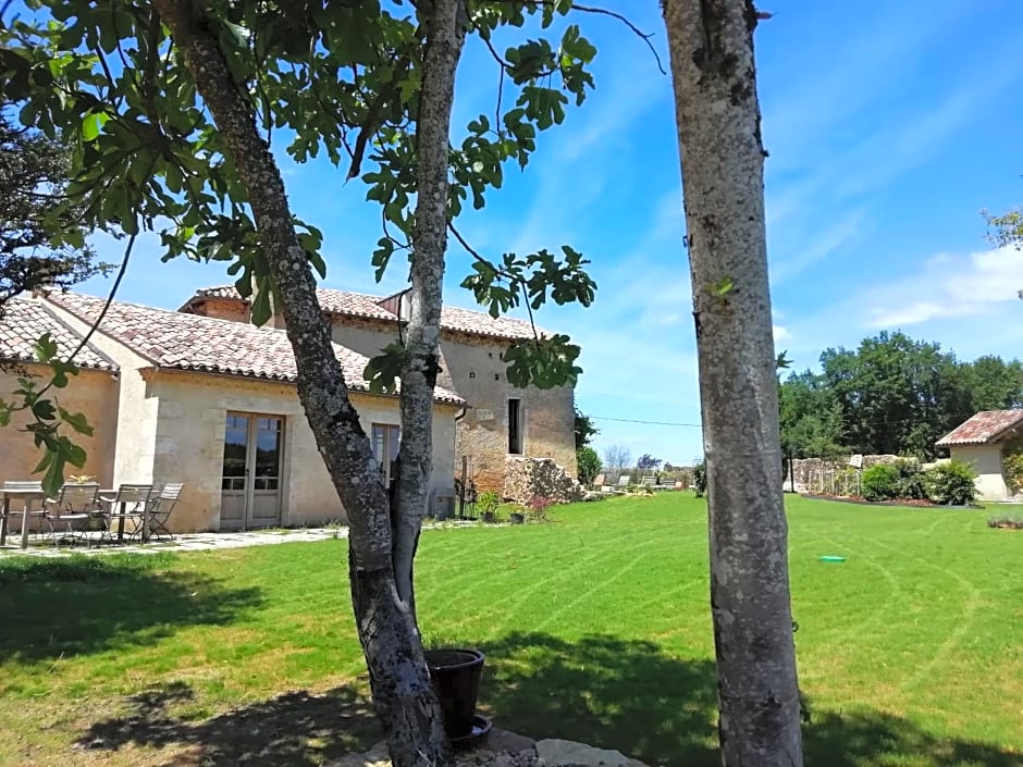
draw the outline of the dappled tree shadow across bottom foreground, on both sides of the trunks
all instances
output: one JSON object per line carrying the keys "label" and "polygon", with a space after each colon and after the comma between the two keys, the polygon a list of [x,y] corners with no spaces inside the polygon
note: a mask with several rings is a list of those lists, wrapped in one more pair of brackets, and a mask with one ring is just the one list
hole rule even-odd
{"label": "dappled tree shadow across bottom foreground, on both sides of the trunks", "polygon": [[[716,681],[708,660],[683,660],[649,641],[517,633],[482,645],[488,654],[481,710],[497,727],[535,739],[564,738],[617,749],[650,765],[717,767]],[[95,723],[79,746],[188,751],[198,764],[313,767],[381,737],[372,707],[353,688],[305,691],[207,721],[174,714],[192,690],[176,682],[127,701],[128,713]],[[812,704],[811,704],[812,706]],[[941,739],[879,712],[819,712],[804,727],[808,767],[1018,767],[1019,753]]]}

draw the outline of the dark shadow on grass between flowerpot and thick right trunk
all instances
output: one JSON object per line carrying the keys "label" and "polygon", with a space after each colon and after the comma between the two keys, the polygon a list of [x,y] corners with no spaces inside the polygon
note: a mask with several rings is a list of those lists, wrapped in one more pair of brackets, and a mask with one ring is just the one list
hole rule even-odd
{"label": "dark shadow on grass between flowerpot and thick right trunk", "polygon": [[488,643],[480,697],[494,723],[651,764],[718,765],[717,681],[708,660],[650,641],[515,633]]}

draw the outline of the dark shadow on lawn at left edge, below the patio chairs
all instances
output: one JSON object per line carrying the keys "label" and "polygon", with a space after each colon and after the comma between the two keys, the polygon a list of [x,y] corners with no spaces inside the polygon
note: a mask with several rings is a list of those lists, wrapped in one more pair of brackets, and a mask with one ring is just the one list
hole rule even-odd
{"label": "dark shadow on lawn at left edge, below the patio chairs", "polygon": [[170,570],[173,554],[0,560],[0,656],[35,663],[148,643],[177,627],[230,623],[258,607],[256,587],[229,589]]}

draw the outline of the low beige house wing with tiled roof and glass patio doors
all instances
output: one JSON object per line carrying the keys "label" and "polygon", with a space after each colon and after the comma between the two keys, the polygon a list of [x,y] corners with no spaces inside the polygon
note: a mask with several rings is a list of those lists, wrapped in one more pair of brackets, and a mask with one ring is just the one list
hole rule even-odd
{"label": "low beige house wing with tiled roof and glass patio doors", "polygon": [[[0,398],[10,397],[22,374],[11,363],[46,374],[33,361],[39,335],[49,332],[66,358],[103,304],[73,293],[10,301],[0,319],[0,359],[9,368],[0,372]],[[398,399],[369,393],[365,356],[341,344],[334,350],[386,482],[397,449]],[[76,361],[79,374],[54,394],[94,426],[91,437],[78,438],[88,455],[82,473],[103,487],[185,482],[172,530],[345,519],[298,401],[283,331],[114,301]],[[454,392],[435,389],[434,507],[451,496],[455,421],[464,406]],[[30,435],[16,430],[22,422],[0,432],[0,479],[29,479],[38,460]]]}

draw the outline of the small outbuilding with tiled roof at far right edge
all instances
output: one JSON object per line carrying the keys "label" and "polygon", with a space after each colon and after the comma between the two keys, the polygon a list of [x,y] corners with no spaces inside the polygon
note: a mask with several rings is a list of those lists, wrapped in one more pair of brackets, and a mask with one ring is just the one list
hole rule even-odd
{"label": "small outbuilding with tiled roof at far right edge", "polygon": [[983,410],[938,440],[952,460],[973,465],[981,500],[1021,499],[1006,480],[1002,458],[1023,451],[1023,409]]}

